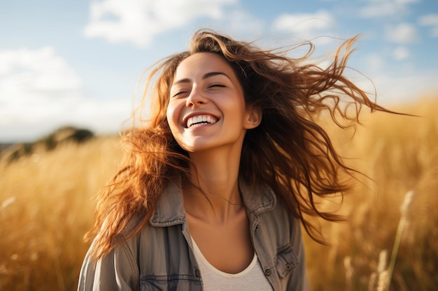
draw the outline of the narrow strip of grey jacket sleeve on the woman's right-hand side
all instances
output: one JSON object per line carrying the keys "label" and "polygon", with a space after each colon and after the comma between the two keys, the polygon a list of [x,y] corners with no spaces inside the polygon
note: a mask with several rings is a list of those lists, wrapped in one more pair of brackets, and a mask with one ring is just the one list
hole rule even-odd
{"label": "narrow strip of grey jacket sleeve on the woman's right-hand side", "polygon": [[292,272],[292,276],[290,276],[288,290],[310,291],[309,279],[307,278],[306,271],[306,256],[301,233],[301,223],[299,223],[297,218],[292,218],[292,221],[294,223],[292,225],[290,244],[292,245],[295,255],[297,255],[298,265],[295,271]]}

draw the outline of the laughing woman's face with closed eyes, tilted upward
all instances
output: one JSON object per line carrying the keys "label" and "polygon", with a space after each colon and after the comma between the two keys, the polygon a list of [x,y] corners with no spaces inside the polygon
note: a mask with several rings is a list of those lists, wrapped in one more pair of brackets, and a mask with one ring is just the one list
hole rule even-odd
{"label": "laughing woman's face with closed eyes, tilted upward", "polygon": [[189,153],[240,147],[253,128],[239,80],[217,54],[192,54],[176,69],[167,121],[178,144]]}

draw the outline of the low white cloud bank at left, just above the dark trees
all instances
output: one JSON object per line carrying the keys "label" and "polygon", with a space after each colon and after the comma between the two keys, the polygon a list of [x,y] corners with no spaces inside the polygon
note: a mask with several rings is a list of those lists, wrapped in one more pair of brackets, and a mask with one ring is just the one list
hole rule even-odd
{"label": "low white cloud bank at left, just above the dark trees", "polygon": [[117,133],[129,118],[131,102],[69,98],[50,104],[40,100],[32,105],[23,103],[10,111],[13,117],[5,120],[2,116],[0,120],[0,142],[34,141],[66,125],[87,128],[97,134]]}

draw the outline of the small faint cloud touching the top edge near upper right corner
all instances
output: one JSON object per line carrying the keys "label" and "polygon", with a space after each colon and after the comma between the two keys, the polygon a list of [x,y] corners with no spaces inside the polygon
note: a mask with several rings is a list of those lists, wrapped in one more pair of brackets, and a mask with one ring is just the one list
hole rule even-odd
{"label": "small faint cloud touching the top edge near upper right corner", "polygon": [[419,0],[371,0],[360,8],[359,15],[365,18],[399,16],[409,13],[409,4]]}

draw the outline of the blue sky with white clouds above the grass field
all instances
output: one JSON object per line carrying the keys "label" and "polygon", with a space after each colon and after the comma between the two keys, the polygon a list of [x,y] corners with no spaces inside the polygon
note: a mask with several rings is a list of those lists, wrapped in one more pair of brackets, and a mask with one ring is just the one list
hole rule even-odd
{"label": "blue sky with white clouds above the grass field", "polygon": [[347,74],[379,103],[438,96],[436,0],[1,0],[0,143],[118,133],[145,70],[202,28],[263,48],[311,40],[322,67],[360,35]]}

